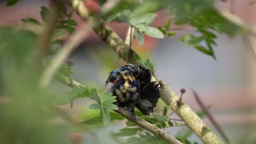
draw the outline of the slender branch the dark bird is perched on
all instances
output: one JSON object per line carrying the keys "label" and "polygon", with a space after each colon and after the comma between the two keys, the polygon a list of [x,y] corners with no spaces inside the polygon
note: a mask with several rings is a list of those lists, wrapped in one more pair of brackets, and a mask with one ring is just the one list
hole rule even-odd
{"label": "slender branch the dark bird is perched on", "polygon": [[[72,87],[72,88],[83,86],[74,80],[68,79],[68,77],[66,77],[60,73],[57,73],[55,78],[57,80],[59,80],[60,82],[62,82],[63,84],[65,84],[69,87]],[[133,115],[131,114],[131,112],[123,109],[122,107],[119,107],[119,110],[115,110],[115,112],[119,113],[120,115],[122,115],[123,117],[128,119],[129,121],[136,123],[139,127],[142,127],[143,129],[150,131],[152,134],[161,137],[161,139],[166,140],[167,142],[170,142],[173,144],[182,143],[182,142],[176,140],[171,135],[167,134],[164,130],[161,130],[161,129],[155,127],[153,124],[150,124],[149,122],[145,121],[144,119],[142,119],[140,117],[135,116],[135,120],[133,121]]]}

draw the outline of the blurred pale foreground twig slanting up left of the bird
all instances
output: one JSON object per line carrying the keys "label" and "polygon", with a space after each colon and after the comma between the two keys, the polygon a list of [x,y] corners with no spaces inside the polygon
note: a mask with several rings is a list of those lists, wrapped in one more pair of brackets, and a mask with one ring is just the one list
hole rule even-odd
{"label": "blurred pale foreground twig slanting up left of the bird", "polygon": [[78,47],[78,45],[82,43],[82,41],[88,36],[88,34],[90,33],[89,31],[90,27],[88,25],[85,25],[71,35],[65,45],[63,45],[61,50],[55,55],[53,61],[45,69],[40,81],[40,86],[48,86],[57,69],[71,54],[71,52],[74,51]]}

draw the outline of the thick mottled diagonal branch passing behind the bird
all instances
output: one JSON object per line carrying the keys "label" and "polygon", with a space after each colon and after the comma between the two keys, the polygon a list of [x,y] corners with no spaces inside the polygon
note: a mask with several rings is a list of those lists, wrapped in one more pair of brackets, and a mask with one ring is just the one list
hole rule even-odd
{"label": "thick mottled diagonal branch passing behind the bird", "polygon": [[[77,0],[69,0],[71,6],[75,1]],[[79,6],[77,5],[77,7]],[[73,7],[73,9],[77,11],[78,14],[81,13],[81,11],[79,11],[79,9],[76,7]],[[83,20],[88,18],[83,17],[83,15],[79,16],[82,17]],[[94,31],[102,40],[104,40],[118,53],[119,57],[123,58],[127,63],[139,64],[135,59],[137,53],[130,50],[129,45],[125,44],[112,28],[102,24],[100,27],[95,27]],[[155,79],[155,77],[153,77],[153,79]],[[219,137],[209,127],[207,127],[202,119],[196,115],[189,105],[185,104],[184,101],[177,103],[177,101],[179,101],[179,95],[177,95],[169,86],[167,86],[164,81],[161,81],[161,99],[164,100],[166,105],[171,106],[171,109],[183,119],[188,127],[193,130],[204,143],[223,143],[222,140],[220,140]]]}

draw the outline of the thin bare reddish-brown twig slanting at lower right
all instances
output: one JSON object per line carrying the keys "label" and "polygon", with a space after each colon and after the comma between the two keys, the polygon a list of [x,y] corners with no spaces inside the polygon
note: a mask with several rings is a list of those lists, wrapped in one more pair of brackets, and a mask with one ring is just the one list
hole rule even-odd
{"label": "thin bare reddish-brown twig slanting at lower right", "polygon": [[212,116],[212,114],[210,113],[210,111],[208,111],[207,107],[202,103],[202,100],[199,98],[199,96],[197,95],[197,93],[194,91],[193,88],[191,88],[194,97],[197,101],[197,104],[199,104],[199,106],[201,107],[202,111],[205,112],[206,116],[210,119],[210,121],[212,122],[212,124],[214,125],[214,127],[217,128],[217,130],[219,131],[219,133],[223,136],[223,138],[225,139],[225,141],[227,143],[229,143],[229,139],[228,137],[225,135],[222,127],[220,127],[220,125],[218,124],[218,122],[214,119],[214,117]]}

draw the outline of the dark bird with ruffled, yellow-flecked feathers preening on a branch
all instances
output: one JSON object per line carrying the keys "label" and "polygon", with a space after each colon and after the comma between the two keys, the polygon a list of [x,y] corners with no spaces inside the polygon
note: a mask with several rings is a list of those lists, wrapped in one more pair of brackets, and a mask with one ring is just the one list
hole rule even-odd
{"label": "dark bird with ruffled, yellow-flecked feathers preening on a branch", "polygon": [[106,93],[117,96],[115,104],[124,107],[133,116],[135,107],[149,116],[161,97],[159,82],[151,82],[151,77],[150,71],[142,66],[124,65],[110,71],[105,84]]}

